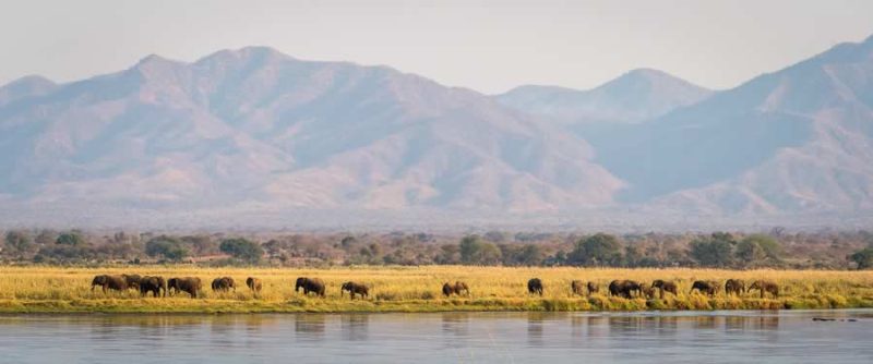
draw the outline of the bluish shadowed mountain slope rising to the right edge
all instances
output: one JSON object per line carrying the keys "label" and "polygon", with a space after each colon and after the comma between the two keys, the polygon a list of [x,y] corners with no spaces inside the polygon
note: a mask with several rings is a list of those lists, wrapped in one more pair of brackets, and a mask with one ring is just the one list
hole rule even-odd
{"label": "bluish shadowed mountain slope rising to the right edge", "polygon": [[591,135],[623,201],[683,211],[873,208],[873,37]]}

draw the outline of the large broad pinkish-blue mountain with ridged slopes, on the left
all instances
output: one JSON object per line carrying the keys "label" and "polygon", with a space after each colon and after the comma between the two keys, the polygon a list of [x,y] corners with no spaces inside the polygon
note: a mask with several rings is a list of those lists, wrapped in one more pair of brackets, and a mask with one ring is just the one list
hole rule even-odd
{"label": "large broad pinkish-blue mountain with ridged slopes, on the left", "polygon": [[246,48],[31,89],[0,109],[12,202],[538,210],[622,186],[584,141],[384,66]]}

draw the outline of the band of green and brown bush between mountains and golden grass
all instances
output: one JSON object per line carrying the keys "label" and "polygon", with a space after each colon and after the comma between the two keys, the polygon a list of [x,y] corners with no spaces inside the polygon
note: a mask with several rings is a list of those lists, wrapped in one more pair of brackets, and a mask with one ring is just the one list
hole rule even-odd
{"label": "band of green and brown bush between mountains and golden grass", "polygon": [[868,269],[873,233],[155,234],[9,230],[7,264],[493,265]]}

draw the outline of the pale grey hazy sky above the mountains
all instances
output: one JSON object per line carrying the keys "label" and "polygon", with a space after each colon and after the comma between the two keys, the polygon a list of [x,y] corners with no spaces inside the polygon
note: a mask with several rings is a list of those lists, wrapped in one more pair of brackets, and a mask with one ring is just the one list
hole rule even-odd
{"label": "pale grey hazy sky above the mountains", "polygon": [[728,88],[873,34],[873,1],[9,1],[0,84],[72,81],[150,53],[270,46],[452,86],[590,88],[635,68]]}

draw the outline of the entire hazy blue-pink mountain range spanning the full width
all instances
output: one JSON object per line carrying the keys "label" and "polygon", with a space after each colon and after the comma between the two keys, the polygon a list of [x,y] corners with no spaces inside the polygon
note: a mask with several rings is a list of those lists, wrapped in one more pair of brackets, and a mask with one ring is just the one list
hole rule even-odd
{"label": "entire hazy blue-pink mountain range spanning the full width", "polygon": [[860,216],[871,160],[873,37],[726,90],[635,70],[590,90],[489,96],[263,47],[0,87],[5,219]]}

